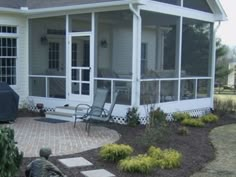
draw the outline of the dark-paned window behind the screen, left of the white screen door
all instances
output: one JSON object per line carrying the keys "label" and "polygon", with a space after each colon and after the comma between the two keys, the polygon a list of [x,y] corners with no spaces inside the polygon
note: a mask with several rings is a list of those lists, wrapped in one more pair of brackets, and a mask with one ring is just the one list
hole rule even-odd
{"label": "dark-paned window behind the screen, left of the white screen door", "polygon": [[48,68],[59,69],[59,43],[49,42]]}

